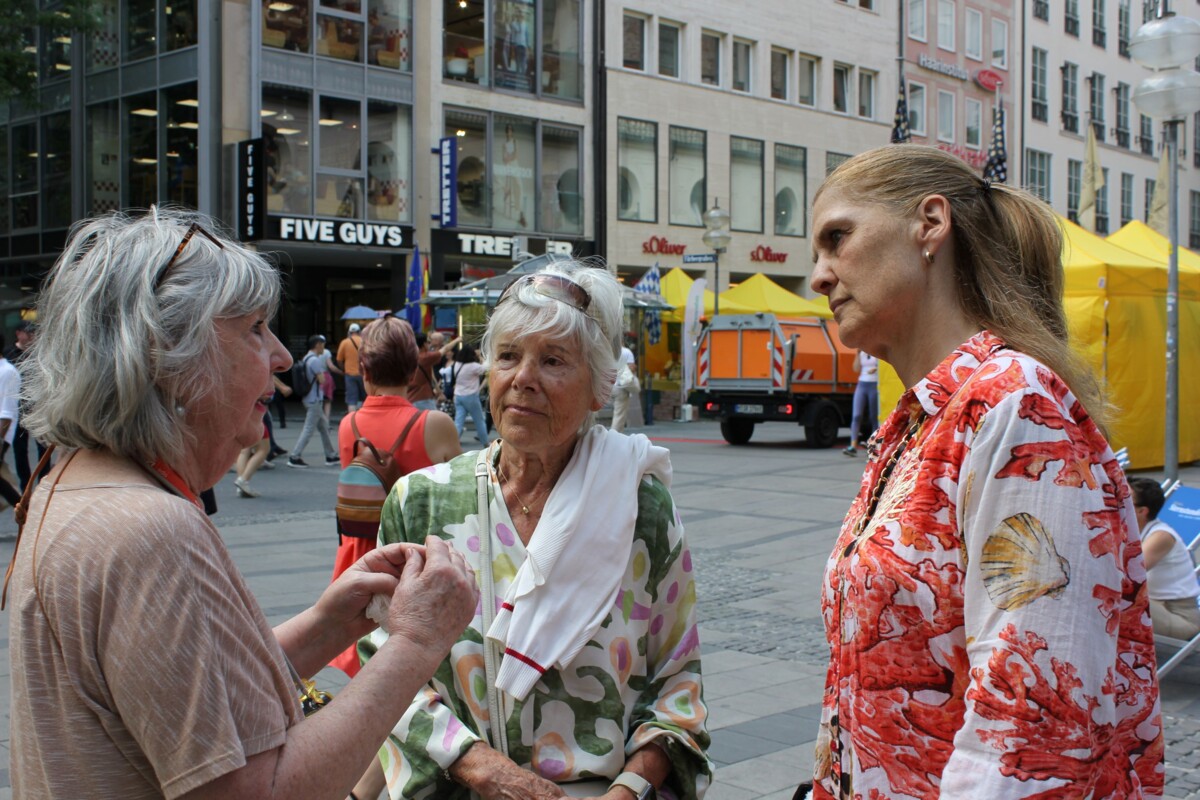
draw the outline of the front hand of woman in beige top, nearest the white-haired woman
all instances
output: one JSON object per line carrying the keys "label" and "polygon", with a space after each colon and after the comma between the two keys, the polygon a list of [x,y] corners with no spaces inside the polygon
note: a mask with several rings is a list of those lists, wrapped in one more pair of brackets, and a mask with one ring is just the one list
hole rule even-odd
{"label": "front hand of woman in beige top, nearest the white-haired woman", "polygon": [[394,637],[445,651],[475,615],[475,573],[462,553],[437,536],[425,540],[424,554],[418,549],[407,554],[384,627]]}

